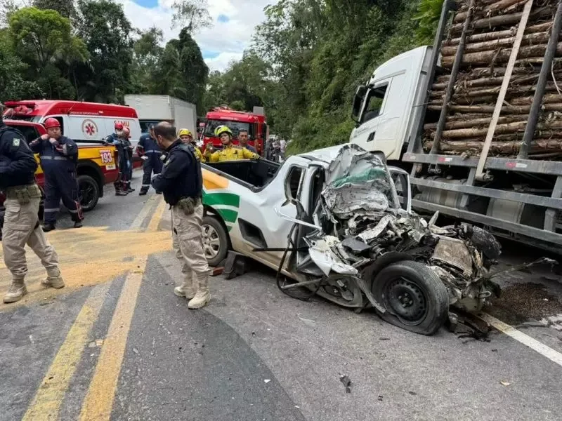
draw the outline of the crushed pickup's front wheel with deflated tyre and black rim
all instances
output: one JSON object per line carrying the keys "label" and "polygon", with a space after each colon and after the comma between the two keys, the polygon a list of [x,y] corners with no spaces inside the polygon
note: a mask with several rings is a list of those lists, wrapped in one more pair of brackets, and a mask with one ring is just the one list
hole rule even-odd
{"label": "crushed pickup's front wheel with deflated tyre and black rim", "polygon": [[372,283],[375,300],[386,309],[381,319],[421,335],[433,335],[449,312],[449,294],[426,265],[402,261],[388,265]]}

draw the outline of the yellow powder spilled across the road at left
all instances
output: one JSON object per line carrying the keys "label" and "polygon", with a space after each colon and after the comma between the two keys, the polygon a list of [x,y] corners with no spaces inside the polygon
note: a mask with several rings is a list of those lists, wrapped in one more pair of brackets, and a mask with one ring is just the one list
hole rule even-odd
{"label": "yellow powder spilled across the road at left", "polygon": [[[26,277],[28,294],[13,305],[0,305],[0,312],[39,300],[51,300],[65,291],[112,281],[117,276],[138,269],[133,261],[137,256],[171,250],[169,231],[110,231],[107,227],[84,227],[47,234],[48,241],[58,253],[60,270],[66,287],[53,290],[41,286],[46,272],[39,258],[26,248],[29,272]],[[4,256],[0,250],[0,260]],[[0,267],[0,294],[9,288],[11,274]]]}

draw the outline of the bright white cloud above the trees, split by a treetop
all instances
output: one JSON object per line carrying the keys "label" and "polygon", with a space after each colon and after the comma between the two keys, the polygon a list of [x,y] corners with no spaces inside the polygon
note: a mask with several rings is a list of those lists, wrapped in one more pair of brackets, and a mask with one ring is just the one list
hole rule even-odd
{"label": "bright white cloud above the trees, split by a treetop", "polygon": [[[174,38],[179,28],[171,29],[174,0],[159,0],[156,8],[139,6],[132,0],[117,0],[124,5],[127,18],[133,26],[148,29],[156,26],[164,32],[164,41]],[[223,70],[230,60],[239,60],[251,41],[254,27],[263,22],[263,8],[276,0],[208,0],[213,25],[200,30],[194,38],[202,51],[218,53],[205,60],[211,70]],[[226,15],[228,22],[218,22],[218,15]]]}

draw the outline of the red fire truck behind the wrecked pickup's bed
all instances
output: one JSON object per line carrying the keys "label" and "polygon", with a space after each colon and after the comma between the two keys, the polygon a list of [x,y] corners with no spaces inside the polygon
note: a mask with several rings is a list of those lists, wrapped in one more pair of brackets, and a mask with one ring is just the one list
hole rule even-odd
{"label": "red fire truck behind the wrecked pickup's bed", "polygon": [[216,137],[215,129],[218,126],[228,126],[234,134],[233,143],[238,144],[238,132],[248,131],[249,142],[256,148],[256,152],[263,156],[265,152],[266,139],[269,127],[266,116],[252,112],[235,111],[226,107],[216,107],[207,112],[205,129],[203,132],[203,149],[212,145],[215,149],[221,149],[221,140]]}

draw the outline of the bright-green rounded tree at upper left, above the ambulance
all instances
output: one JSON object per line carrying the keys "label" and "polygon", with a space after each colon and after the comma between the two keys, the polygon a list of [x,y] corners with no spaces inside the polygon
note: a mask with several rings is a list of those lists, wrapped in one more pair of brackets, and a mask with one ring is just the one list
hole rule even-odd
{"label": "bright-green rounded tree at upper left, above the ambulance", "polygon": [[85,62],[88,51],[72,35],[70,20],[53,10],[22,8],[11,13],[9,32],[14,51],[27,69],[24,78],[37,81],[48,98],[75,98],[70,69]]}

